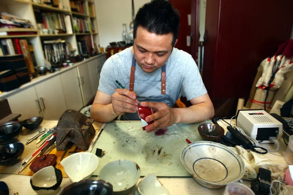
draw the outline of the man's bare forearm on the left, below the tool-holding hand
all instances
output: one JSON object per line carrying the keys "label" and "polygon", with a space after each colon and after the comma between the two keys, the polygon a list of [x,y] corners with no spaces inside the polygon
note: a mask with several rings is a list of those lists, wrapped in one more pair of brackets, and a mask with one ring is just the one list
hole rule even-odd
{"label": "man's bare forearm on the left, below the tool-holding hand", "polygon": [[98,122],[110,122],[118,115],[114,112],[112,104],[93,104],[90,109],[90,117]]}

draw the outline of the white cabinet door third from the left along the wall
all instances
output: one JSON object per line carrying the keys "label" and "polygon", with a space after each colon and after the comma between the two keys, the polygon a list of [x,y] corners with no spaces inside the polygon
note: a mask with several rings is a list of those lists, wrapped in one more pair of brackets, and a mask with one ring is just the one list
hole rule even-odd
{"label": "white cabinet door third from the left along the wall", "polygon": [[67,109],[79,111],[83,106],[80,80],[73,68],[60,75]]}

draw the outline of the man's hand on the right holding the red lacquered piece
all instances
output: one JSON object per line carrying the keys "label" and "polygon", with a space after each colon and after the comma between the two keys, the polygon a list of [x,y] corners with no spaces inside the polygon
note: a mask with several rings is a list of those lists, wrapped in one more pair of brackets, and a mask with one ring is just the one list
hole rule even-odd
{"label": "man's hand on the right holding the red lacquered piece", "polygon": [[175,110],[170,108],[166,103],[156,102],[141,102],[142,106],[152,108],[152,115],[146,117],[146,122],[155,120],[152,124],[146,126],[146,132],[152,132],[156,129],[169,127],[174,124],[177,120]]}

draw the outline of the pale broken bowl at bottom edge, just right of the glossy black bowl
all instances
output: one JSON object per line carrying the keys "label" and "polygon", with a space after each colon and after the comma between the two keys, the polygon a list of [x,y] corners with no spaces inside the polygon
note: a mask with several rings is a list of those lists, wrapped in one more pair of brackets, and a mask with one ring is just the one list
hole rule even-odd
{"label": "pale broken bowl at bottom edge, just right of the glossy black bowl", "polygon": [[170,193],[155,174],[150,174],[141,180],[135,195],[170,195]]}

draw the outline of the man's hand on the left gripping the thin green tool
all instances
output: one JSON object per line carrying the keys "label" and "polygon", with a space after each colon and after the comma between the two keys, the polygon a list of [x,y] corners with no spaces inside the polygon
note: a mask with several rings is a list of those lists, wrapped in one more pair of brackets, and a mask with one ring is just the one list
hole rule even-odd
{"label": "man's hand on the left gripping the thin green tool", "polygon": [[127,89],[116,89],[112,95],[113,110],[117,115],[137,112],[136,94]]}

